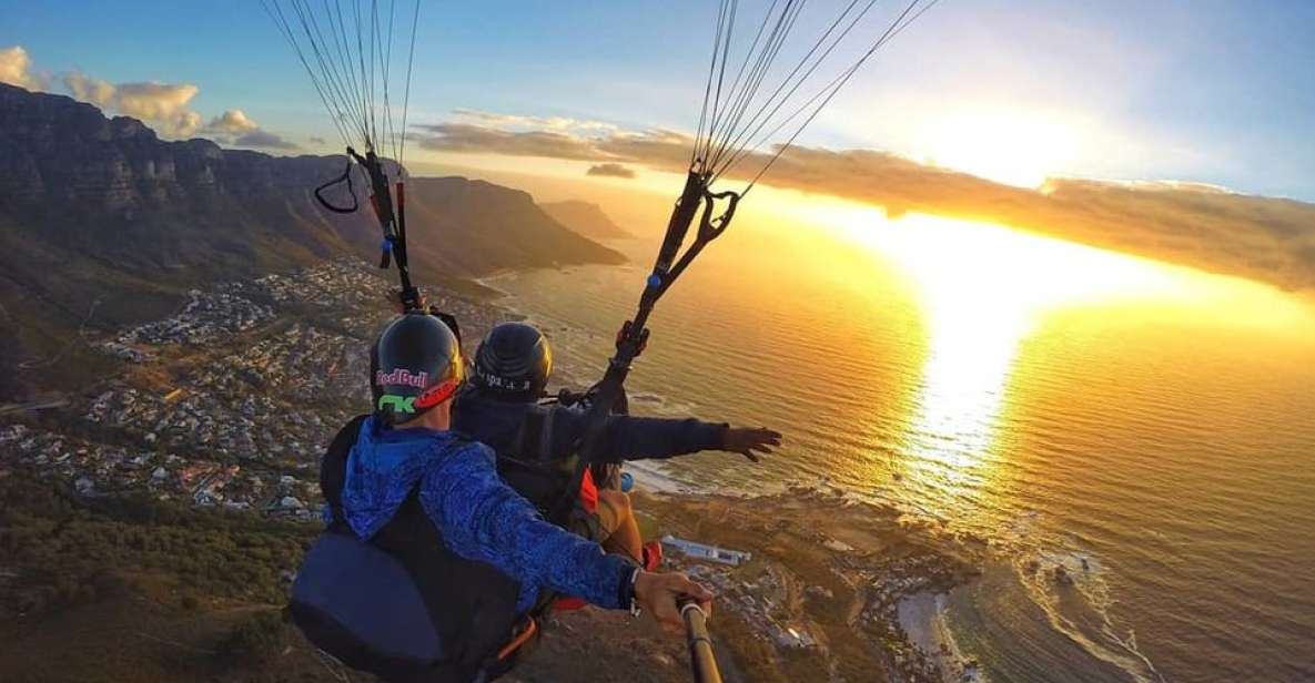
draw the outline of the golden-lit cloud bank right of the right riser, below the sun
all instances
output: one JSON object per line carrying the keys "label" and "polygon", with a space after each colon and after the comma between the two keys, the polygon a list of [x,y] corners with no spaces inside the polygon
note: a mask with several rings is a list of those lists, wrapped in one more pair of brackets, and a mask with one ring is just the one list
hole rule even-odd
{"label": "golden-lit cloud bank right of the right riser, below the sun", "polygon": [[1315,289],[1311,204],[1184,183],[1052,179],[1038,192],[871,150],[792,148],[767,177],[893,214],[1003,223],[1286,289]]}

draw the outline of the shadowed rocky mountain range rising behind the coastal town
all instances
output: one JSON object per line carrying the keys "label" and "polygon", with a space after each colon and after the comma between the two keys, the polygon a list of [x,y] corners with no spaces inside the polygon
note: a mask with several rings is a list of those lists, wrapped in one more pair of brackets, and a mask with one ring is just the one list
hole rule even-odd
{"label": "shadowed rocky mountain range rising behind the coastal town", "polygon": [[[162,315],[208,281],[376,259],[368,211],[333,214],[310,194],[343,164],[166,142],[137,120],[0,84],[0,365],[84,320],[105,328]],[[527,193],[462,177],[412,180],[408,229],[421,284],[623,260]]]}

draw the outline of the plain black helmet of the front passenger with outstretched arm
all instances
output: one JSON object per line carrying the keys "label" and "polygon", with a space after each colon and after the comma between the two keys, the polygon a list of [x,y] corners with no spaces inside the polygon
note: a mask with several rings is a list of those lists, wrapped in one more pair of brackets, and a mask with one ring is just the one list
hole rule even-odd
{"label": "plain black helmet of the front passenger with outstretched arm", "polygon": [[535,401],[551,374],[552,349],[543,332],[525,323],[502,323],[480,342],[471,382],[504,401]]}

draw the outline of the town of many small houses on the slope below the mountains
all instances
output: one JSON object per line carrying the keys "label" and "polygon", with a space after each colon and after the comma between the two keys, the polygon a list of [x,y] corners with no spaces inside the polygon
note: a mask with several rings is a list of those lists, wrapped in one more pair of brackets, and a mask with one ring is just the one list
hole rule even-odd
{"label": "town of many small houses on the slope below the mountains", "polygon": [[[0,470],[33,466],[84,495],[318,519],[320,454],[370,405],[388,292],[350,263],[193,290],[175,315],[99,342],[129,365],[120,377],[59,410],[0,416]],[[492,323],[471,301],[433,303],[472,330]]]}

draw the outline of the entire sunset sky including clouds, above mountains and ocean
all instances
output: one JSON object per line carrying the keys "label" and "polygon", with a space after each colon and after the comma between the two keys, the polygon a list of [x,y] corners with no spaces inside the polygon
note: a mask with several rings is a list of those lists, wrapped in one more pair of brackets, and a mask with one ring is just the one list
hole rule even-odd
{"label": "entire sunset sky including clouds, above mountains and ocean", "polygon": [[[714,18],[711,1],[423,3],[409,160],[514,156],[580,177],[611,164],[635,184],[673,169],[668,151],[688,146],[655,131],[694,127]],[[943,0],[772,180],[1315,286],[1315,208],[1302,204],[1315,200],[1311,35],[1303,0]],[[0,80],[137,116],[163,137],[339,147],[255,1],[4,3]]]}

